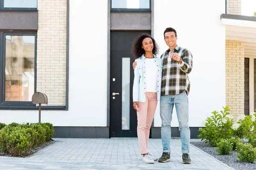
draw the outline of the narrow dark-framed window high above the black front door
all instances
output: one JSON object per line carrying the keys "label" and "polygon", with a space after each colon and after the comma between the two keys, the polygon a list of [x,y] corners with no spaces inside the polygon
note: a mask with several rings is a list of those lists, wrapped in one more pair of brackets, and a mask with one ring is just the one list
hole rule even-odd
{"label": "narrow dark-framed window high above the black front door", "polygon": [[150,0],[111,0],[111,11],[151,11]]}

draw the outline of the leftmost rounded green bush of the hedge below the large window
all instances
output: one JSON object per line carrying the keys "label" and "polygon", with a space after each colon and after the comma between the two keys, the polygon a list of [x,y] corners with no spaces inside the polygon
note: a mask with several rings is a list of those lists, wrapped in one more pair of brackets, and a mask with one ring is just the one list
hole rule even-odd
{"label": "leftmost rounded green bush of the hedge below the large window", "polygon": [[20,156],[26,150],[29,150],[31,136],[26,133],[26,129],[17,127],[3,127],[0,130],[0,150],[14,156]]}

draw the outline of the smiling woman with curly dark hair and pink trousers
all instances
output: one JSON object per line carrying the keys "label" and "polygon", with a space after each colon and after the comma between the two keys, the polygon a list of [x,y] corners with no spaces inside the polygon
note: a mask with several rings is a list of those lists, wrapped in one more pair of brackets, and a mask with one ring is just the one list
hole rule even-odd
{"label": "smiling woman with curly dark hair and pink trousers", "polygon": [[158,45],[149,34],[142,34],[134,40],[133,54],[137,67],[134,69],[133,106],[137,111],[140,154],[145,163],[157,160],[147,150],[149,130],[161,91],[162,60],[155,56],[157,53]]}

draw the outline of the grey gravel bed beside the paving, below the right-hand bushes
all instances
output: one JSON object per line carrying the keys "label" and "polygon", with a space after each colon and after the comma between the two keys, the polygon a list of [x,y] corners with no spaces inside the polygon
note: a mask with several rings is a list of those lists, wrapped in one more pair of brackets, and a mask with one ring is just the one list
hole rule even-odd
{"label": "grey gravel bed beside the paving, below the right-hand bushes", "polygon": [[239,162],[236,156],[237,152],[232,151],[230,155],[218,155],[215,147],[205,144],[204,142],[190,142],[199,149],[215,157],[216,159],[224,162],[225,164],[233,167],[235,170],[256,170],[256,163]]}

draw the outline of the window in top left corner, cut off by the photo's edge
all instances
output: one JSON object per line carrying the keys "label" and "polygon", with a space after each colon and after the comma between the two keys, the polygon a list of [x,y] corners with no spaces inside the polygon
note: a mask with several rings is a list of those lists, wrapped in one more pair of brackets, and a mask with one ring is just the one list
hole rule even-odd
{"label": "window in top left corner, cut off by the photo's edge", "polygon": [[0,0],[1,10],[37,10],[37,0]]}

